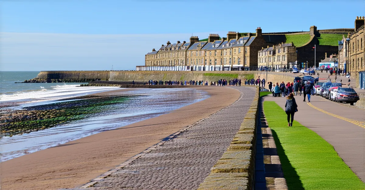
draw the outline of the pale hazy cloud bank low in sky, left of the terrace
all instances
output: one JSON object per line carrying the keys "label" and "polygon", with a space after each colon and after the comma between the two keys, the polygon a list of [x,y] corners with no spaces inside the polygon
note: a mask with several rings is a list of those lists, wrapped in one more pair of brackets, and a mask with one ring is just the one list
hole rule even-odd
{"label": "pale hazy cloud bank low in sky, left of the terrace", "polygon": [[[221,32],[225,36],[226,32]],[[209,33],[194,33],[200,39]],[[191,34],[0,33],[2,71],[132,70],[145,54],[167,41],[189,41]]]}

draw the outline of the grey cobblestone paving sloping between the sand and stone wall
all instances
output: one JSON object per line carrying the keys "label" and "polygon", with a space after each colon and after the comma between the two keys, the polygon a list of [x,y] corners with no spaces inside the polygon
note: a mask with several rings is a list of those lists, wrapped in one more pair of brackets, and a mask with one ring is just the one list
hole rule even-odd
{"label": "grey cobblestone paving sloping between the sand and stone wall", "polygon": [[138,157],[90,189],[197,189],[226,151],[255,95],[254,88],[231,88],[241,91],[236,103]]}

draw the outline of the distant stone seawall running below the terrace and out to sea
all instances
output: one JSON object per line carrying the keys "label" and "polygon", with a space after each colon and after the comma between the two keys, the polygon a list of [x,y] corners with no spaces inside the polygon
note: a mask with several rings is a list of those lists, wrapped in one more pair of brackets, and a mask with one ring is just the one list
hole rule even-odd
{"label": "distant stone seawall running below the terrace and out to sea", "polygon": [[[266,79],[264,71],[42,71],[37,78],[46,80],[101,80],[101,81],[135,81],[148,80],[203,80],[218,81],[219,79],[231,80]],[[266,81],[293,81],[295,73],[268,72]]]}

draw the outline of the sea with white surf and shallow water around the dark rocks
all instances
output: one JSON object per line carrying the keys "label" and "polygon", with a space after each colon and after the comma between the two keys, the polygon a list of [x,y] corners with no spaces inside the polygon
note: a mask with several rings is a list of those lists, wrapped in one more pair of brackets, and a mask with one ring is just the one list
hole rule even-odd
{"label": "sea with white surf and shallow water around the dark rocks", "polygon": [[[80,84],[87,83],[15,83],[33,79],[38,73],[39,71],[0,72],[0,105],[2,106],[0,112],[4,113],[4,110],[9,109],[22,110],[37,105],[53,105],[65,101],[80,101],[78,98],[80,96],[121,89],[119,87],[79,87]],[[209,97],[206,92],[191,88],[141,88],[121,93],[123,96],[128,96],[127,100],[114,105],[112,109],[105,109],[108,110],[105,113],[44,130],[1,137],[0,162],[105,130],[158,117]]]}

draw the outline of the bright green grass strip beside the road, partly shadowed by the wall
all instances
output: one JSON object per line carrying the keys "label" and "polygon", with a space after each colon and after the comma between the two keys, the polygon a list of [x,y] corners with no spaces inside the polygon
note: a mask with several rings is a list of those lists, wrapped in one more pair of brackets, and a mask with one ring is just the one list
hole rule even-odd
{"label": "bright green grass strip beside the road, partly shadowed by the wall", "polygon": [[322,137],[297,121],[288,127],[287,115],[275,102],[265,101],[264,111],[289,190],[365,189],[364,183]]}

